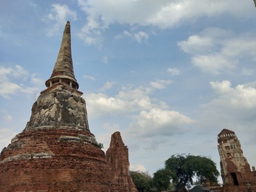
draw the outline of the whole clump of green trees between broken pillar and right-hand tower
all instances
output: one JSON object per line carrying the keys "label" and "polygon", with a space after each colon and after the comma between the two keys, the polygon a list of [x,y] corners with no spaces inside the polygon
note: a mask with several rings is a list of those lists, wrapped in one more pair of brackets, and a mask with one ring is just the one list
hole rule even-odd
{"label": "whole clump of green trees between broken pillar and right-hand tower", "polygon": [[132,181],[138,191],[166,191],[175,188],[176,191],[185,191],[185,187],[193,185],[196,179],[198,185],[209,182],[218,182],[220,173],[215,162],[209,157],[175,154],[165,161],[165,167],[150,176],[141,171],[130,171]]}

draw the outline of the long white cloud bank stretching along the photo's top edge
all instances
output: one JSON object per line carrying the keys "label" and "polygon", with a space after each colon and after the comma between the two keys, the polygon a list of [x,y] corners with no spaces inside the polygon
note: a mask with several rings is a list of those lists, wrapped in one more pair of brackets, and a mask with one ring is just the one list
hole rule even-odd
{"label": "long white cloud bank stretching along the photo's top edge", "polygon": [[[248,16],[245,13],[250,2],[240,1],[210,1],[210,0],[180,0],[180,1],[115,1],[112,0],[79,0],[78,4],[90,17],[100,18],[105,25],[140,24],[155,25],[166,28],[181,21],[191,20],[202,16],[216,16],[229,13],[232,16]],[[232,4],[232,9],[230,5]]]}

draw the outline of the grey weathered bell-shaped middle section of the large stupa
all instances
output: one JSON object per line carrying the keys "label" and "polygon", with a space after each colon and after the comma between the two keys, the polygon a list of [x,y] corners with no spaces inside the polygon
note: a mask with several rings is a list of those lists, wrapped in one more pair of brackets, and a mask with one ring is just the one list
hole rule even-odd
{"label": "grey weathered bell-shaped middle section of the large stupa", "polygon": [[34,103],[30,121],[24,131],[31,128],[81,128],[90,131],[85,100],[59,86],[44,92]]}

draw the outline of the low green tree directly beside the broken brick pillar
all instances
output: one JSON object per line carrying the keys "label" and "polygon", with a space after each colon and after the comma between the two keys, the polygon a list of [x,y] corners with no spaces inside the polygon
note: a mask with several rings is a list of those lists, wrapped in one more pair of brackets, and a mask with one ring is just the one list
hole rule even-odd
{"label": "low green tree directly beside the broken brick pillar", "polygon": [[138,191],[152,191],[152,177],[148,173],[141,171],[129,171],[129,175],[132,176],[132,181],[134,182]]}

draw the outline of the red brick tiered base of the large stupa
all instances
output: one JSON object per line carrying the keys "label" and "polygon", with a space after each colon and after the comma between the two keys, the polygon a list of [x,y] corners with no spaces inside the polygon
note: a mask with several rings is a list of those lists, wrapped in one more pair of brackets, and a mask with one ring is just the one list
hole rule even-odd
{"label": "red brick tiered base of the large stupa", "polygon": [[92,135],[65,128],[19,134],[1,152],[0,191],[110,191],[104,151],[86,140],[69,140],[81,134]]}

